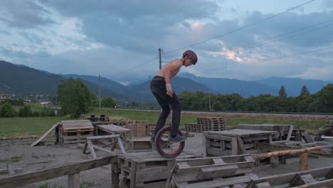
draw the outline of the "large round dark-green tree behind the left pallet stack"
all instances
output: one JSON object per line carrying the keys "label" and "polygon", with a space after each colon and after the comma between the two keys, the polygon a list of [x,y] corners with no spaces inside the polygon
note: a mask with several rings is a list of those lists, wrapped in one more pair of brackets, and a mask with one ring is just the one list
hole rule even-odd
{"label": "large round dark-green tree behind the left pallet stack", "polygon": [[58,85],[58,103],[63,114],[78,117],[86,113],[91,104],[91,92],[80,80],[69,78],[61,80]]}

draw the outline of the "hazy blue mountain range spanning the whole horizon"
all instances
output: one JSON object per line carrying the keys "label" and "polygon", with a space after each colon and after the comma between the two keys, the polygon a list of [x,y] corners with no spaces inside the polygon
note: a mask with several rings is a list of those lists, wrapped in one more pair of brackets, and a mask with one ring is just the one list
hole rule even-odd
{"label": "hazy blue mountain range spanning the whole horizon", "polygon": [[[114,80],[93,75],[58,75],[37,70],[28,66],[16,65],[0,61],[0,92],[14,93],[27,97],[33,93],[56,95],[58,84],[66,78],[80,78],[88,89],[101,97],[127,101],[154,101],[150,92],[150,79],[142,83],[122,85]],[[303,80],[300,78],[267,78],[264,80],[245,81],[228,78],[204,78],[190,73],[181,73],[171,80],[176,93],[184,91],[203,93],[231,94],[238,93],[247,98],[251,95],[270,94],[277,95],[282,85],[288,96],[297,96],[303,85],[310,93],[316,93],[332,81]]]}

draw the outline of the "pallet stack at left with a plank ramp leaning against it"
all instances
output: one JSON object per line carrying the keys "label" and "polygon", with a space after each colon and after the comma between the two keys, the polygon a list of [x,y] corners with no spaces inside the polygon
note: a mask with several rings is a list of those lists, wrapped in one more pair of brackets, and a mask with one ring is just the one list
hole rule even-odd
{"label": "pallet stack at left with a plank ramp leaning against it", "polygon": [[68,120],[59,123],[57,131],[56,140],[60,145],[78,144],[93,136],[94,127],[90,120]]}

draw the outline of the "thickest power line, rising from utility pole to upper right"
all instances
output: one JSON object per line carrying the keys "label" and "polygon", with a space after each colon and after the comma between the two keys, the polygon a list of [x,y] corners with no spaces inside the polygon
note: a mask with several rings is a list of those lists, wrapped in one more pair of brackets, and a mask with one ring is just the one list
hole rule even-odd
{"label": "thickest power line, rising from utility pole to upper right", "polygon": [[193,43],[193,44],[191,44],[191,45],[189,45],[189,46],[185,46],[185,47],[182,47],[182,48],[178,48],[178,49],[175,49],[175,50],[172,50],[172,51],[167,51],[167,52],[164,53],[164,54],[167,54],[167,53],[173,53],[173,52],[175,52],[175,51],[180,51],[180,50],[183,50],[183,49],[185,49],[185,48],[189,48],[189,47],[192,47],[192,46],[196,46],[196,45],[199,45],[199,44],[201,44],[201,43],[206,43],[207,41],[211,41],[211,40],[213,40],[213,39],[220,38],[220,37],[222,37],[222,36],[226,36],[226,35],[228,35],[228,34],[231,34],[231,33],[234,33],[234,32],[236,32],[236,31],[239,31],[239,30],[241,30],[241,29],[243,29],[243,28],[248,28],[248,27],[253,26],[253,25],[257,24],[257,23],[261,23],[261,22],[263,22],[263,21],[267,21],[268,19],[273,19],[273,18],[276,17],[276,16],[280,16],[281,14],[285,14],[285,13],[288,12],[288,11],[291,11],[291,10],[293,10],[293,9],[297,9],[297,8],[299,8],[300,6],[304,6],[304,5],[306,5],[306,4],[310,4],[312,1],[316,1],[316,0],[307,1],[307,2],[305,2],[304,4],[300,4],[300,5],[298,5],[298,6],[295,6],[295,7],[291,8],[291,9],[287,9],[287,11],[282,11],[282,12],[280,12],[279,14],[275,14],[275,15],[273,15],[273,16],[269,16],[269,17],[266,18],[266,19],[262,19],[262,20],[260,20],[260,21],[255,21],[254,23],[250,23],[250,24],[248,24],[248,25],[246,25],[246,26],[243,26],[243,27],[240,27],[240,28],[236,28],[236,29],[234,29],[234,30],[232,30],[232,31],[228,31],[228,32],[223,33],[223,34],[221,34],[221,35],[219,35],[219,36],[214,36],[213,38],[208,38],[208,39],[206,39],[206,40],[204,40],[204,41],[201,41],[201,42],[198,42],[198,43]]}

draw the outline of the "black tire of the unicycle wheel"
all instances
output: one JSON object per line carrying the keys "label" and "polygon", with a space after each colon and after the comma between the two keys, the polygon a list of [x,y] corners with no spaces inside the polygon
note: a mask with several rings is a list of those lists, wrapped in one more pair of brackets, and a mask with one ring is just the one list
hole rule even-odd
{"label": "black tire of the unicycle wheel", "polygon": [[[181,152],[183,152],[184,147],[185,147],[185,142],[179,142],[177,144],[173,144],[173,145],[178,145],[176,146],[176,151],[175,152],[167,152],[168,147],[171,145],[169,142],[165,141],[162,139],[164,137],[165,134],[169,135],[169,133],[171,132],[171,127],[170,126],[164,126],[161,130],[159,130],[159,132],[157,132],[157,135],[155,136],[155,147],[157,152],[159,153],[159,155],[161,155],[164,158],[169,158],[169,159],[173,159],[176,158],[178,155],[181,154]],[[179,131],[179,135],[182,135],[181,132]],[[164,148],[166,147],[166,148]]]}

